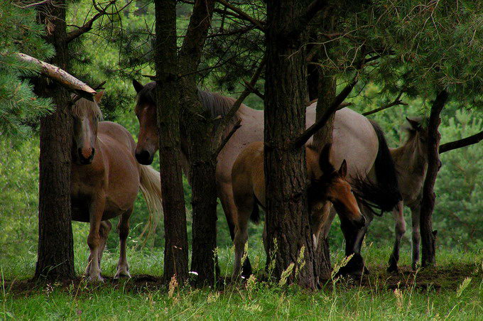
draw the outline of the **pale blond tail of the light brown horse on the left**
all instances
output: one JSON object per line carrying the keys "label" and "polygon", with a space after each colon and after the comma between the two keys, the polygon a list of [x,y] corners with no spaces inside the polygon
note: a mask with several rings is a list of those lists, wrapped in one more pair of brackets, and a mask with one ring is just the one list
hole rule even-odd
{"label": "pale blond tail of the light brown horse on the left", "polygon": [[[148,205],[149,220],[143,232],[139,236],[143,239],[142,245],[146,244],[148,237],[156,232],[161,216],[163,215],[163,198],[161,196],[161,179],[159,172],[151,166],[140,165],[140,189],[143,193],[146,205]],[[145,235],[146,234],[146,235]]]}

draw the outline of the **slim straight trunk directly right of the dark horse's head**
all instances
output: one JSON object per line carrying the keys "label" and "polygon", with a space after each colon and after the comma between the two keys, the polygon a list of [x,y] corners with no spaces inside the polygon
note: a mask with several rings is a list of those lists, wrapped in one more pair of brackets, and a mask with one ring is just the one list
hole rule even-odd
{"label": "slim straight trunk directly right of the dark horse's head", "polygon": [[159,132],[159,172],[164,212],[165,282],[188,279],[188,234],[180,156],[180,104],[176,57],[176,2],[156,1],[156,102]]}

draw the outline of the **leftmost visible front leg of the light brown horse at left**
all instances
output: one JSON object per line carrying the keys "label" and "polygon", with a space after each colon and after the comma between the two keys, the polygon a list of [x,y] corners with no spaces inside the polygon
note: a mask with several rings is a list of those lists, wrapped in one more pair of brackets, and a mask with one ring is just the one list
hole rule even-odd
{"label": "leftmost visible front leg of the light brown horse at left", "polygon": [[87,245],[90,249],[89,263],[87,264],[86,275],[87,281],[104,281],[99,268],[99,248],[101,245],[101,236],[99,236],[99,228],[101,226],[102,214],[106,198],[103,192],[99,192],[89,209],[90,229],[87,236]]}

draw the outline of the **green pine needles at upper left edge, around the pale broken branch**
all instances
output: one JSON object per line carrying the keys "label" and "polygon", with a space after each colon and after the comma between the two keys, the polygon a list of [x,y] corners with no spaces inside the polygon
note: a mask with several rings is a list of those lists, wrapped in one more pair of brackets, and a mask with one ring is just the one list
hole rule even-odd
{"label": "green pine needles at upper left edge, around the pale broken branch", "polygon": [[28,124],[52,110],[48,99],[33,94],[25,77],[36,75],[37,67],[19,60],[22,52],[38,59],[53,55],[43,40],[43,26],[36,23],[34,9],[22,9],[22,1],[0,3],[0,136],[22,138]]}

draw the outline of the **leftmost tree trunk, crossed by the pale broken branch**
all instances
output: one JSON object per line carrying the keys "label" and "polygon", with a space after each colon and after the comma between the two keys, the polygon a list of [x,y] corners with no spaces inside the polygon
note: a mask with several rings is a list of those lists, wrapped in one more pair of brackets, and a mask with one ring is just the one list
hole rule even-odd
{"label": "leftmost tree trunk, crossed by the pale broken branch", "polygon": [[[55,48],[51,62],[67,70],[65,1],[42,6],[39,21],[45,23],[46,40]],[[51,97],[55,112],[40,120],[38,259],[35,278],[75,277],[72,214],[70,208],[70,168],[72,116],[70,94],[45,78],[36,83],[41,97]]]}

